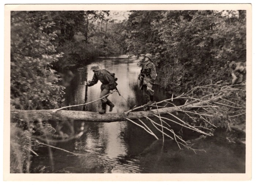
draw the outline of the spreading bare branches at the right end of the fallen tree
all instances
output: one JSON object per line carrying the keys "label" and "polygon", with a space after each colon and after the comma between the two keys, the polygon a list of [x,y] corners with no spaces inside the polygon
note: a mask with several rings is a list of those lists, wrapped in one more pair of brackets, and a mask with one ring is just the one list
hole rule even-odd
{"label": "spreading bare branches at the right end of the fallen tree", "polygon": [[[182,128],[190,129],[199,133],[200,135],[213,136],[214,130],[220,127],[224,121],[227,121],[227,125],[229,127],[230,118],[245,114],[245,100],[242,98],[242,96],[245,95],[245,90],[243,88],[243,83],[231,86],[210,84],[195,87],[178,97],[173,97],[172,95],[172,98],[170,99],[154,102],[151,105],[133,107],[131,110],[128,110],[126,114],[129,114],[133,110],[143,108],[144,106],[156,107],[157,110],[158,107],[167,107],[167,105],[171,106],[168,107],[170,109],[168,114],[173,118],[161,116],[158,112],[158,114],[155,114],[155,117],[157,117],[159,120],[159,123],[157,123],[149,117],[144,117],[146,120],[148,120],[148,123],[151,123],[157,131],[162,133],[163,142],[165,137],[168,137],[169,139],[175,140],[178,147],[181,148],[181,146],[183,146],[196,152],[196,149],[191,147],[191,143],[183,140],[181,136],[178,136],[173,129],[171,129],[170,125],[178,124]],[[238,92],[240,94],[238,94]],[[233,101],[232,97],[234,97]],[[226,98],[229,98],[229,100]],[[185,103],[184,105],[175,105],[173,102],[174,99],[184,99]],[[160,106],[159,104],[161,103],[166,104],[164,106]],[[187,119],[185,120],[185,116],[183,118],[175,116],[172,111],[173,109],[178,110],[176,112],[183,113]],[[140,123],[142,123],[142,125],[140,125],[128,118],[127,120],[143,128],[145,131],[158,139],[156,134],[153,133],[153,131],[147,126],[146,122],[139,120]]]}

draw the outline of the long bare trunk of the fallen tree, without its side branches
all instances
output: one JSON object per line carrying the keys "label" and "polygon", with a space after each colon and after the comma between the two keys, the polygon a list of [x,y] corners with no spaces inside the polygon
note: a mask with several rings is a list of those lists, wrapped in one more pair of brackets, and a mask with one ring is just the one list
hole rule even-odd
{"label": "long bare trunk of the fallen tree, without its side branches", "polygon": [[64,121],[64,120],[74,120],[74,121],[92,121],[92,122],[114,122],[114,121],[125,121],[126,118],[130,120],[138,120],[146,117],[154,117],[155,115],[165,115],[173,112],[180,112],[182,110],[189,110],[197,108],[199,106],[207,105],[208,103],[218,101],[223,98],[218,96],[207,101],[200,101],[197,103],[191,103],[187,105],[166,107],[161,109],[153,109],[150,111],[139,111],[125,113],[107,113],[99,114],[95,112],[86,111],[72,111],[72,110],[11,110],[11,117],[14,119],[22,120],[38,120],[41,121]]}

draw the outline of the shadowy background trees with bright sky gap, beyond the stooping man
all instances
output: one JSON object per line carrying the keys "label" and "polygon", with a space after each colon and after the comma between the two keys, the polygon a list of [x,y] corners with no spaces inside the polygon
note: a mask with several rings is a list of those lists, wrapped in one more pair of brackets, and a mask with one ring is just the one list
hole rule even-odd
{"label": "shadowy background trees with bright sky gap, beyond the stooping man", "polygon": [[57,30],[57,51],[63,52],[56,69],[88,63],[96,56],[120,54],[116,42],[116,25],[109,11],[53,11],[50,12]]}

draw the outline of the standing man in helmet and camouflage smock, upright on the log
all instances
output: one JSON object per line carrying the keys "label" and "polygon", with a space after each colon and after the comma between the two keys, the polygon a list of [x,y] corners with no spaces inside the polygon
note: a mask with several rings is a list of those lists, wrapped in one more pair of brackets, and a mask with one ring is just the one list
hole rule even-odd
{"label": "standing man in helmet and camouflage smock, upright on the log", "polygon": [[[147,53],[145,55],[144,63],[142,64],[142,69],[140,70],[139,80],[140,89],[143,90],[144,97],[147,101],[146,104],[148,105],[153,103],[154,91],[152,90],[152,87],[156,78],[157,73],[155,64],[152,63],[152,55]],[[146,106],[145,110],[150,110],[150,106]]]}

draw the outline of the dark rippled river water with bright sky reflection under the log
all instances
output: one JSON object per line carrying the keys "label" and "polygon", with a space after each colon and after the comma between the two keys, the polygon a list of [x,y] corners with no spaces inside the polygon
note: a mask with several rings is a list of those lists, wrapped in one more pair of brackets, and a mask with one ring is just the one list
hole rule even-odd
{"label": "dark rippled river water with bright sky reflection under the log", "polygon": [[[84,68],[61,72],[62,84],[66,87],[65,104],[77,105],[84,103],[86,98],[87,102],[99,98],[101,82],[87,90],[85,86],[86,80],[93,77],[89,70],[91,65],[98,64],[102,69],[116,73],[118,78],[117,87],[123,97],[116,92],[109,96],[115,105],[113,113],[143,105],[146,102],[139,90],[140,67],[137,63],[138,60],[127,56],[97,58]],[[170,97],[157,85],[154,90],[155,101]],[[82,108],[78,106],[70,110]],[[84,108],[98,112],[101,102]],[[106,113],[109,113],[108,109]],[[72,123],[79,128],[82,121]],[[78,155],[42,147],[40,155],[32,159],[31,173],[245,173],[245,144],[229,142],[226,129],[215,131],[212,137],[199,137],[197,133],[171,125],[183,139],[194,143],[193,148],[202,150],[195,153],[186,148],[180,149],[174,140],[167,137],[163,142],[162,134],[153,127],[159,140],[128,121],[83,123],[85,133],[79,139],[55,145]]]}

